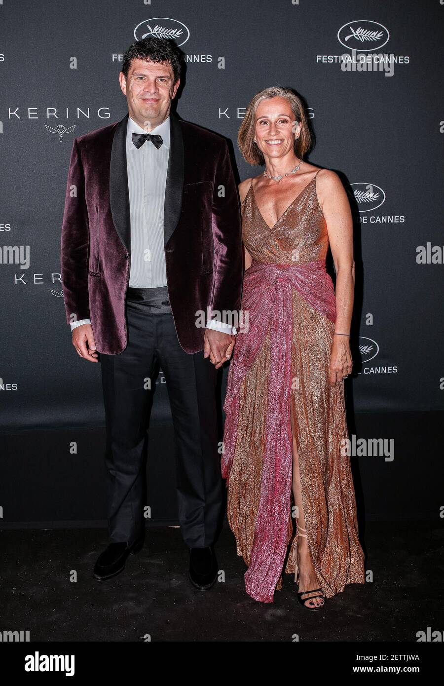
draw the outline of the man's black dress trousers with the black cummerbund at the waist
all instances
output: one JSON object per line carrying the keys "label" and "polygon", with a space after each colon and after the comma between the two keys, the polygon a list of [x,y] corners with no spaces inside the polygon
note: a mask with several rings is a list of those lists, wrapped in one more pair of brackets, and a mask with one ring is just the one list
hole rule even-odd
{"label": "man's black dress trousers with the black cummerbund at the waist", "polygon": [[215,539],[222,514],[215,397],[218,372],[203,351],[189,355],[181,348],[166,287],[129,288],[126,316],[128,346],[119,355],[100,353],[110,539],[132,543],[143,533],[148,389],[150,383],[154,388],[160,366],[174,425],[180,530],[189,547],[207,547]]}

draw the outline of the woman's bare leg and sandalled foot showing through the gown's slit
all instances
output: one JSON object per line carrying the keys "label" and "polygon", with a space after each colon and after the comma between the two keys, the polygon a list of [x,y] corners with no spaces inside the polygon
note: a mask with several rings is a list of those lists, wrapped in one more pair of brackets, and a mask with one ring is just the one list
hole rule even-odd
{"label": "woman's bare leg and sandalled foot showing through the gown's slit", "polygon": [[[291,413],[291,425],[292,425],[292,440],[293,440],[293,482],[292,490],[294,497],[294,505],[296,506],[296,521],[299,524],[299,528],[307,529],[305,525],[303,503],[302,503],[302,493],[301,493],[301,475],[299,472],[299,459],[298,459],[298,447],[296,442],[296,431],[293,425],[293,412]],[[298,542],[296,545],[296,564],[299,567],[299,591],[307,591],[307,595],[302,596],[302,600],[305,601],[307,607],[318,607],[324,604],[322,598],[313,598],[309,600],[311,595],[318,595],[318,593],[309,593],[309,590],[318,589],[320,584],[318,578],[316,577],[316,571],[314,570],[312,563],[312,556],[310,555],[308,548],[308,540],[305,536],[298,536]]]}

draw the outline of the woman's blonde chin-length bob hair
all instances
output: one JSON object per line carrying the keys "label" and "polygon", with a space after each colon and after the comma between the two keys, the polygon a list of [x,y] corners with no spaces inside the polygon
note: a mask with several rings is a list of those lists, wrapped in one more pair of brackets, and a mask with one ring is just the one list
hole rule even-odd
{"label": "woman's blonde chin-length bob hair", "polygon": [[294,121],[301,123],[301,134],[299,138],[294,141],[294,154],[303,159],[303,156],[306,154],[307,150],[309,150],[312,143],[307,117],[305,117],[303,104],[299,97],[295,95],[290,88],[281,88],[281,86],[264,88],[264,91],[260,91],[253,97],[246,108],[245,119],[242,121],[239,133],[237,134],[237,145],[239,146],[239,150],[242,152],[244,160],[250,165],[261,166],[265,164],[264,155],[253,139],[255,137],[256,112],[259,102],[268,100],[272,97],[285,97],[285,99],[290,102]]}

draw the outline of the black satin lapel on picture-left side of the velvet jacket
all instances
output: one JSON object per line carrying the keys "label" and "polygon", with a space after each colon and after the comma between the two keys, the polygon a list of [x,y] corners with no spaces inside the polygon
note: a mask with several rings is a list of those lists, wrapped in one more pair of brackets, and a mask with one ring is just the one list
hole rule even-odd
{"label": "black satin lapel on picture-left side of the velvet jacket", "polygon": [[117,124],[110,163],[110,207],[114,226],[121,242],[130,252],[130,196],[126,169],[126,125],[128,114]]}

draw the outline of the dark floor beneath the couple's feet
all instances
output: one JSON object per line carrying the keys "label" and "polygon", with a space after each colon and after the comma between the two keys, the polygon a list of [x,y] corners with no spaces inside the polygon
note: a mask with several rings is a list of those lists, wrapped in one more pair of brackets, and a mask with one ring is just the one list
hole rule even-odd
{"label": "dark floor beneath the couple's feet", "polygon": [[[441,526],[440,526],[441,524]],[[3,530],[1,629],[29,630],[31,641],[417,641],[444,629],[444,530],[438,523],[367,523],[366,569],[310,613],[290,575],[274,603],[244,591],[242,558],[224,528],[217,546],[225,581],[197,591],[187,578],[187,549],[177,528],[150,528],[126,569],[93,580],[106,531]],[[77,581],[70,576],[77,574]]]}

